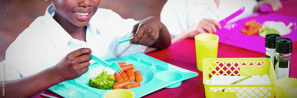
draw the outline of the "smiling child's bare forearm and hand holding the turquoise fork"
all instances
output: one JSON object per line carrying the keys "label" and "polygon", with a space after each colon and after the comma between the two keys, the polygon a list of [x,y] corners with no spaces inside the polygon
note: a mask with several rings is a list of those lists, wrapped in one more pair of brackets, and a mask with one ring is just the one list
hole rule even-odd
{"label": "smiling child's bare forearm and hand holding the turquoise fork", "polygon": [[3,97],[31,97],[53,85],[80,77],[89,69],[91,49],[81,48],[70,52],[53,67],[20,79],[5,82]]}

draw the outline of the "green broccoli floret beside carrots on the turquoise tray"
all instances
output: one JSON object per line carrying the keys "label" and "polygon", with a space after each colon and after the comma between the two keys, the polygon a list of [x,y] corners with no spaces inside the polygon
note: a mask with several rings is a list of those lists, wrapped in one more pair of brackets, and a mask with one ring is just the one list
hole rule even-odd
{"label": "green broccoli floret beside carrots on the turquoise tray", "polygon": [[113,89],[113,85],[116,84],[116,80],[112,75],[107,75],[107,71],[103,71],[95,79],[90,79],[89,84],[91,87],[97,89]]}

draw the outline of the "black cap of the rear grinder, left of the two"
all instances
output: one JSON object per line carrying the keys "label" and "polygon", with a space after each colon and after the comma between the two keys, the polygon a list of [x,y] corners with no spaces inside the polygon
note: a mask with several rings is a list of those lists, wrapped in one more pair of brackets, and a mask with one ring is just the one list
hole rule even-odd
{"label": "black cap of the rear grinder, left of the two", "polygon": [[267,34],[265,36],[265,47],[275,49],[275,41],[278,38],[282,38],[279,34]]}

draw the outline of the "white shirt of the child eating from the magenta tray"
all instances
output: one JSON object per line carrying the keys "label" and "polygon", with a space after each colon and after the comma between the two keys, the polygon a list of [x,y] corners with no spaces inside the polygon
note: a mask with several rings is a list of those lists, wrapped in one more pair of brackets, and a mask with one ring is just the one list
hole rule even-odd
{"label": "white shirt of the child eating from the magenta tray", "polygon": [[244,12],[228,23],[249,16],[256,4],[255,0],[220,0],[217,7],[214,0],[168,0],[162,8],[160,19],[174,37],[202,19],[219,22],[242,7],[245,7]]}

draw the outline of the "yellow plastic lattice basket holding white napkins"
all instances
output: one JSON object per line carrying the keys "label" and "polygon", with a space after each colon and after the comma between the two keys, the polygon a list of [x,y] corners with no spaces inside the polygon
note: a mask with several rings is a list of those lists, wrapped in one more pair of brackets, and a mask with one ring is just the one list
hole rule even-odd
{"label": "yellow plastic lattice basket holding white napkins", "polygon": [[[210,85],[206,79],[212,75],[263,76],[267,74],[268,85]],[[274,98],[276,75],[269,58],[206,58],[203,59],[203,84],[206,98]],[[222,90],[224,92],[222,92]],[[218,92],[217,92],[218,91]]]}

